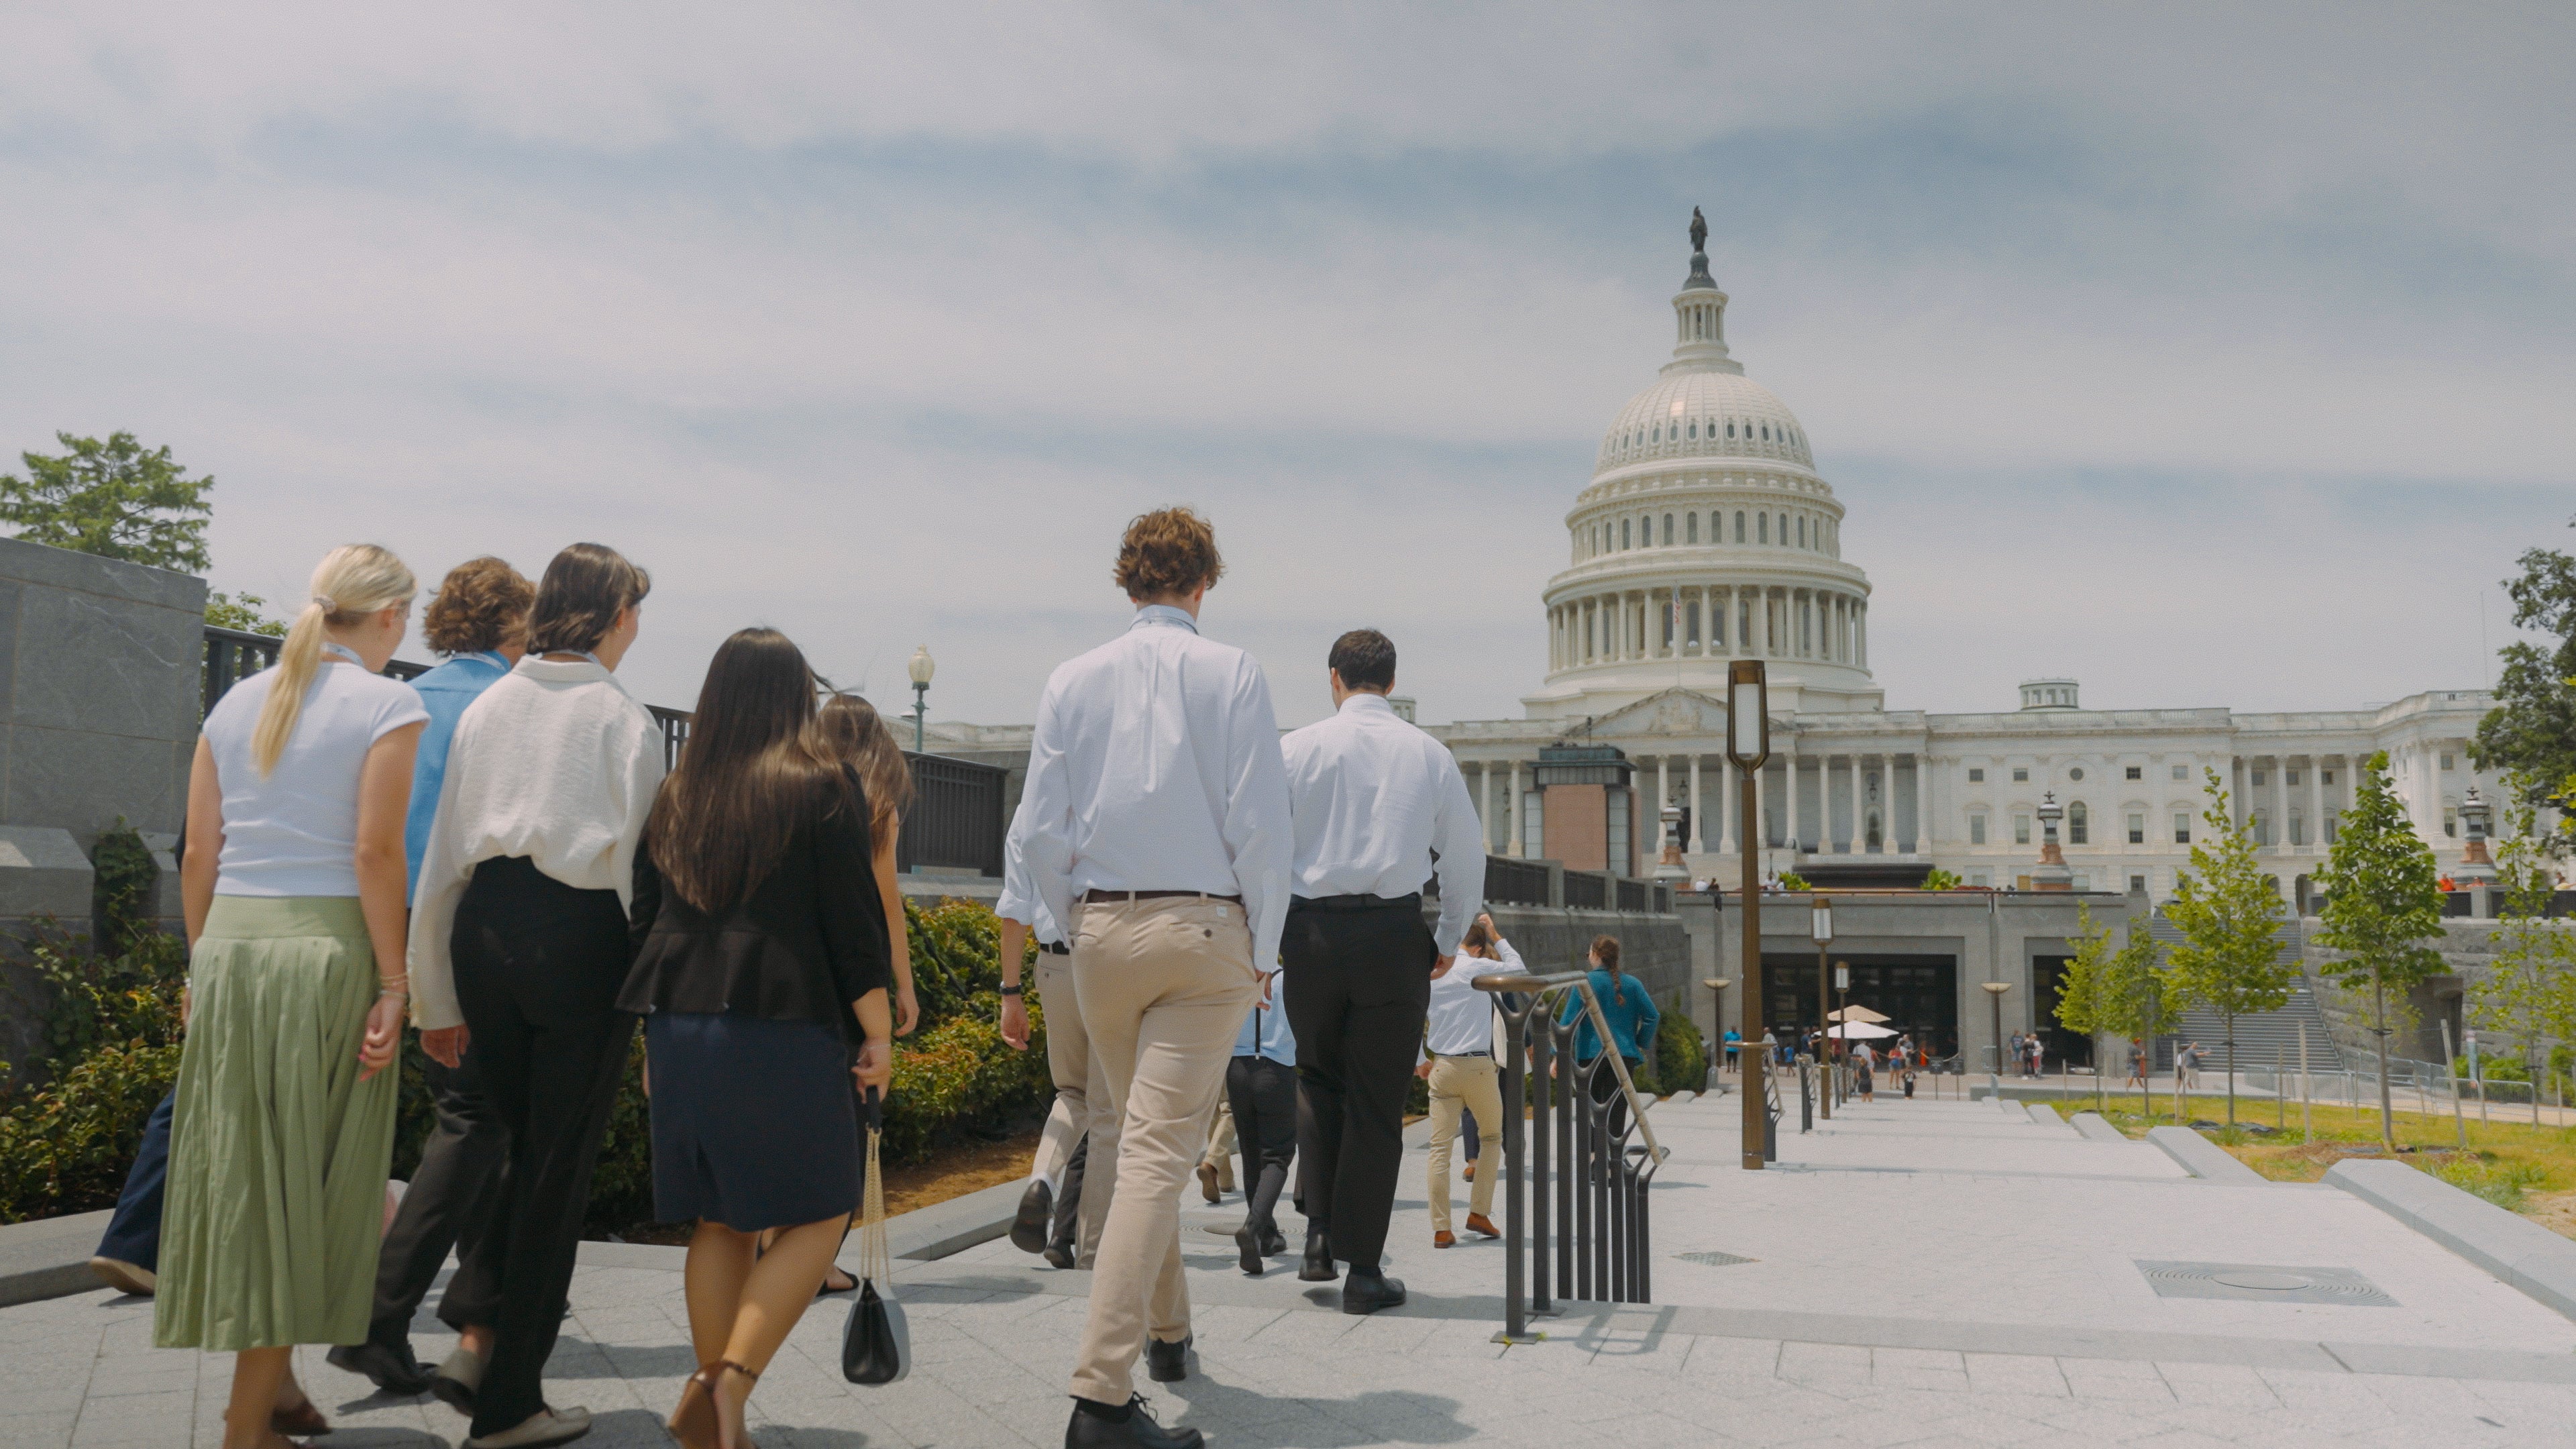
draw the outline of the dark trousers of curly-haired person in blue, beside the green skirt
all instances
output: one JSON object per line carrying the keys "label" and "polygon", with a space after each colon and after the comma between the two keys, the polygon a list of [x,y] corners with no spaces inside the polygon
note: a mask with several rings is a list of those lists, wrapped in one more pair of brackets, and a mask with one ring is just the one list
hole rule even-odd
{"label": "dark trousers of curly-haired person in blue, beside the green skirt", "polygon": [[500,1201],[500,1178],[510,1160],[510,1129],[500,1124],[484,1098],[474,1060],[466,1052],[461,1067],[428,1062],[430,1101],[438,1104],[438,1127],[420,1145],[420,1168],[402,1194],[394,1225],[384,1230],[384,1253],[376,1258],[376,1320],[366,1338],[386,1348],[404,1348],[412,1341],[412,1312],[438,1281],[438,1269],[448,1261],[448,1248],[464,1243],[464,1258],[448,1292],[438,1297],[438,1320],[464,1330],[489,1328],[500,1315],[500,1276],[487,1263],[492,1235],[484,1222]]}

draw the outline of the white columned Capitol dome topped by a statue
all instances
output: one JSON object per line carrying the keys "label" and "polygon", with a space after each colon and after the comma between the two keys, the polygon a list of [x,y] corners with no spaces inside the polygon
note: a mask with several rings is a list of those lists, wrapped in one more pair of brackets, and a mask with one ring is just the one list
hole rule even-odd
{"label": "white columned Capitol dome topped by a statue", "polygon": [[1806,428],[1726,351],[1726,291],[1692,217],[1672,361],[1602,433],[1548,580],[1548,683],[1533,717],[1602,717],[1682,686],[1726,694],[1765,660],[1785,709],[1878,709],[1870,580],[1842,562],[1842,503]]}

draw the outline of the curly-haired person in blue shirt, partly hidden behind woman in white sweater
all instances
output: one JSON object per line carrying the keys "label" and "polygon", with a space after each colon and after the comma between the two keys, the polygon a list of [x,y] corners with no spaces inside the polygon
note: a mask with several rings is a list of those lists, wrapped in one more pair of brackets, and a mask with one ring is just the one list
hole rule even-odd
{"label": "curly-haired person in blue shirt, partly hidden behind woman in white sweater", "polygon": [[[412,681],[420,704],[430,712],[412,763],[412,812],[402,833],[415,887],[420,884],[420,853],[430,843],[430,820],[438,815],[438,786],[448,773],[448,743],[456,740],[456,722],[464,719],[469,704],[482,699],[482,691],[518,665],[531,603],[536,603],[536,585],[495,557],[456,565],[430,596],[420,634],[448,660]],[[492,1320],[500,1312],[500,1284],[492,1266],[477,1261],[484,1235],[474,1232],[474,1225],[492,1212],[492,1186],[510,1158],[510,1129],[484,1101],[471,1057],[456,1067],[430,1060],[422,1070],[430,1098],[438,1104],[438,1127],[420,1145],[420,1168],[412,1173],[394,1225],[384,1232],[366,1343],[343,1343],[330,1351],[330,1361],[340,1369],[366,1374],[379,1390],[397,1395],[443,1390],[412,1356],[412,1312],[420,1310],[420,1299],[428,1297],[438,1269],[448,1261],[448,1248],[459,1240],[466,1245],[466,1261],[448,1279],[448,1292],[438,1299],[438,1318],[464,1338],[464,1348],[489,1356]]]}

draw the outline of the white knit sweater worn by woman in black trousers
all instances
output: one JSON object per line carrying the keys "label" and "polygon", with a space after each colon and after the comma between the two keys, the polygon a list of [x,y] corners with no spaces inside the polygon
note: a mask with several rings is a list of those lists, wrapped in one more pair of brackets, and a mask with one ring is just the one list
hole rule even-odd
{"label": "white knit sweater worn by woman in black trousers", "polygon": [[528,856],[577,890],[634,900],[636,835],[662,789],[662,727],[600,665],[526,657],[456,722],[412,892],[412,1024],[459,1026],[448,936],[489,859]]}

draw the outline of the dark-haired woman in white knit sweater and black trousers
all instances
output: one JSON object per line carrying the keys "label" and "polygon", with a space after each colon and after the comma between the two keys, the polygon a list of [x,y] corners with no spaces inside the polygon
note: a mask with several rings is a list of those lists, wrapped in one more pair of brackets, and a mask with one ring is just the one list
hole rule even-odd
{"label": "dark-haired woman in white knit sweater and black trousers", "polygon": [[662,727],[613,670],[636,642],[649,588],[616,549],[554,554],[528,611],[526,657],[456,722],[420,859],[420,1049],[456,1067],[471,1044],[484,1096],[510,1129],[484,1240],[448,1287],[497,1305],[492,1351],[459,1346],[430,1374],[430,1392],[474,1415],[469,1449],[590,1434],[587,1410],[546,1408],[541,1379],[634,1044],[634,1016],[618,1008],[634,962],[626,902],[662,784]]}

